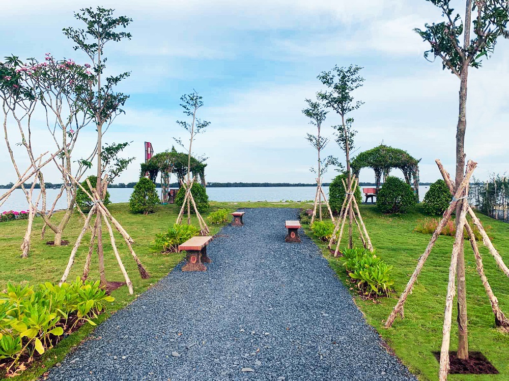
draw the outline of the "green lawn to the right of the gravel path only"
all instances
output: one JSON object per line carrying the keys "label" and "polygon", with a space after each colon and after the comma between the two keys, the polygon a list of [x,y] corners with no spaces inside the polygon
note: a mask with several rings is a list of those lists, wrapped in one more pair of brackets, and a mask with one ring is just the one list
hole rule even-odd
{"label": "green lawn to the right of the gravel path only", "polygon": [[[404,290],[417,260],[429,243],[431,234],[414,232],[417,220],[425,217],[417,206],[415,211],[402,215],[382,215],[375,205],[362,205],[361,213],[378,255],[393,266],[394,293],[390,298],[377,302],[363,300],[352,290],[355,303],[364,313],[367,322],[375,327],[395,354],[420,380],[438,379],[438,362],[432,352],[440,351],[442,342],[443,311],[447,291],[448,269],[454,237],[440,236],[426,261],[413,293],[405,303],[405,318],[395,320],[392,328],[383,328],[383,323]],[[490,236],[498,251],[509,263],[509,225],[479,215],[485,227],[491,227]],[[345,239],[345,238],[344,238]],[[343,241],[346,245],[346,240]],[[342,242],[342,247],[343,247]],[[317,240],[337,276],[349,283],[341,262],[330,255],[326,244]],[[360,240],[356,244],[360,246]],[[482,246],[482,243],[480,244]],[[483,246],[485,273],[498,298],[500,308],[509,314],[509,279],[498,269],[493,257]],[[469,349],[482,352],[499,371],[498,375],[451,374],[453,381],[508,381],[509,380],[509,334],[496,329],[491,305],[475,269],[473,251],[465,241],[466,283],[468,303]],[[350,287],[352,287],[350,285]],[[450,349],[456,350],[458,332],[455,329],[456,304],[453,310],[453,330]]]}

